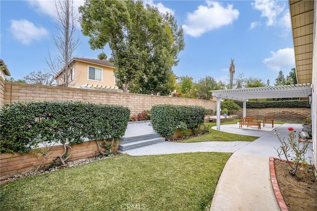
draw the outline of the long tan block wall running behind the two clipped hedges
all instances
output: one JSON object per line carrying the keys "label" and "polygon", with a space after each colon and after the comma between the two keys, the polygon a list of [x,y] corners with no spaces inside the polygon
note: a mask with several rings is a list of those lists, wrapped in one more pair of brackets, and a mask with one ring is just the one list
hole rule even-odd
{"label": "long tan block wall running behind the two clipped hedges", "polygon": [[131,115],[150,110],[157,104],[199,105],[216,110],[216,102],[179,97],[155,96],[105,90],[91,90],[60,86],[5,83],[4,103],[15,101],[83,101],[127,106]]}

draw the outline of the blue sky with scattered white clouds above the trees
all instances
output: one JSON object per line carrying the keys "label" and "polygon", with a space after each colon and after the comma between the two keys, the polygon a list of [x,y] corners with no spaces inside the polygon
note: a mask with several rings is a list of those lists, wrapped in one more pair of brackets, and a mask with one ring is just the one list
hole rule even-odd
{"label": "blue sky with scattered white clouds above the trees", "polygon": [[[75,0],[76,6],[83,0]],[[228,83],[230,59],[235,76],[256,77],[273,85],[282,70],[285,77],[295,67],[287,0],[146,0],[161,12],[174,14],[184,29],[185,49],[173,67],[176,76],[206,75]],[[48,52],[54,53],[50,0],[0,0],[0,58],[11,76],[23,79],[32,71],[45,70]],[[102,50],[91,50],[88,37],[74,55],[97,58]],[[110,56],[109,50],[104,52]]]}

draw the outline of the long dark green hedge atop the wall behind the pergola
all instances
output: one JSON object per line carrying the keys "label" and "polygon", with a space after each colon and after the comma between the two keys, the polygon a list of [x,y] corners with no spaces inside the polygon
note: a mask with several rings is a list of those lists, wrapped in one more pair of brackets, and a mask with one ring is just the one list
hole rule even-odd
{"label": "long dark green hedge atop the wall behind the pergola", "polygon": [[[235,101],[241,108],[243,102]],[[310,108],[307,100],[283,100],[267,102],[247,102],[247,108]]]}

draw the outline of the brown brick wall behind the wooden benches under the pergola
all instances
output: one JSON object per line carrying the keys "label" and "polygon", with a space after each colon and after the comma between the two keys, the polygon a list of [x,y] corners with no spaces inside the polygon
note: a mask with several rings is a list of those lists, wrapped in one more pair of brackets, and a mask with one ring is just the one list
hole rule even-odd
{"label": "brown brick wall behind the wooden benches under the pergola", "polygon": [[[242,108],[238,112],[239,117],[243,116]],[[311,115],[310,108],[247,108],[247,115],[264,119],[264,116],[273,116],[275,121],[303,123]]]}

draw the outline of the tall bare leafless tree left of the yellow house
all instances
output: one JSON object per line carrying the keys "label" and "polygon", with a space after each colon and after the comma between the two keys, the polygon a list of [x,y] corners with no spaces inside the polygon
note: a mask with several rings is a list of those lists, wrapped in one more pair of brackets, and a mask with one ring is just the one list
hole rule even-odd
{"label": "tall bare leafless tree left of the yellow house", "polygon": [[49,52],[46,63],[53,74],[57,75],[62,71],[61,80],[64,82],[64,86],[68,86],[71,74],[70,61],[74,50],[79,45],[79,38],[76,36],[77,16],[73,0],[54,0],[53,11],[56,29],[53,43],[57,54],[52,55]]}

